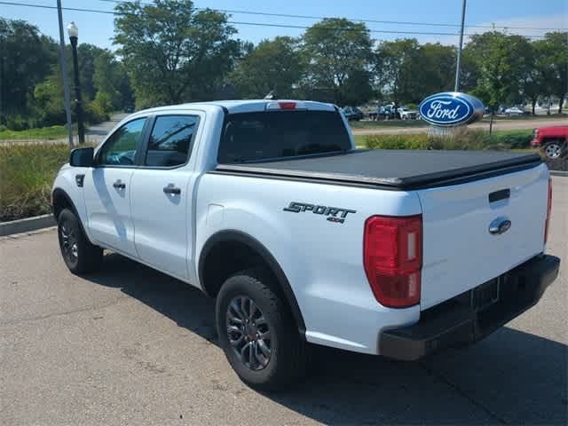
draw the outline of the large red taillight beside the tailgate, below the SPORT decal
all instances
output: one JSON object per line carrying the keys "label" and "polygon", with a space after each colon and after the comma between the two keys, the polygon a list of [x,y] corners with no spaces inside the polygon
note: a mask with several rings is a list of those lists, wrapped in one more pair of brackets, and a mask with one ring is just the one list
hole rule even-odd
{"label": "large red taillight beside the tailgate, below the SPORT decal", "polygon": [[392,308],[419,304],[422,215],[369,217],[365,223],[363,259],[377,302]]}

